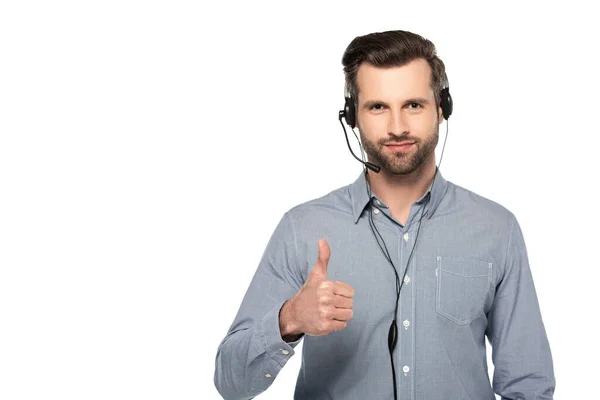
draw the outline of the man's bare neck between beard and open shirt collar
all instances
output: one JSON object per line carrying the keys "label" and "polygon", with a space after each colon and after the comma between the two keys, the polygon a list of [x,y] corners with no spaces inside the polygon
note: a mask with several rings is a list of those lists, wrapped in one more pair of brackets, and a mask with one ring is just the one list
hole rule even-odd
{"label": "man's bare neck between beard and open shirt collar", "polygon": [[435,156],[408,175],[391,174],[383,169],[368,174],[372,192],[390,207],[392,213],[408,214],[410,206],[419,200],[433,181]]}

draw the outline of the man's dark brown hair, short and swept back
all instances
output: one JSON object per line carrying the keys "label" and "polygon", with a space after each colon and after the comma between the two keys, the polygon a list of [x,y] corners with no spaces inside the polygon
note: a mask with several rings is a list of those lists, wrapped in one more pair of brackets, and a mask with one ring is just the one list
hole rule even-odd
{"label": "man's dark brown hair, short and swept back", "polygon": [[380,68],[401,67],[418,58],[425,59],[431,68],[430,86],[439,105],[440,92],[448,87],[448,77],[435,45],[420,35],[400,30],[370,33],[350,42],[342,57],[346,95],[358,101],[356,74],[363,62]]}

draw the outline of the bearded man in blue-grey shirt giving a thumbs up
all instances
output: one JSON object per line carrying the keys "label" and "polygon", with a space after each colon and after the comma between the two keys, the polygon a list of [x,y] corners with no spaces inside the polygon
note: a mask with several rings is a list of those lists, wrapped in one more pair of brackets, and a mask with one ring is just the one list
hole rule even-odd
{"label": "bearded man in blue-grey shirt giving a thumbs up", "polygon": [[283,215],[219,346],[217,390],[262,393],[304,340],[300,400],[552,399],[519,223],[436,167],[448,85],[433,43],[374,33],[354,39],[342,62],[380,171]]}

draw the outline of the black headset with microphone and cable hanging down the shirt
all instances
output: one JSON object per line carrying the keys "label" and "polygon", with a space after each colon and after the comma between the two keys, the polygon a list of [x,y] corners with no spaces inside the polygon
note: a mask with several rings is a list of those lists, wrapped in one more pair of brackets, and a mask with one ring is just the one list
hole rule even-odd
{"label": "black headset with microphone and cable hanging down the shirt", "polygon": [[[381,167],[364,160],[364,152],[363,152],[362,144],[360,143],[358,136],[356,136],[356,132],[354,132],[354,128],[356,127],[356,104],[357,104],[357,102],[356,102],[356,99],[354,98],[354,96],[352,96],[350,94],[350,91],[348,90],[347,85],[346,85],[344,97],[345,97],[344,109],[339,111],[338,118],[339,118],[340,124],[342,125],[342,129],[344,129],[344,136],[346,137],[346,143],[348,144],[348,148],[350,149],[350,152],[352,153],[354,158],[356,158],[358,161],[363,163],[365,166],[365,169],[364,169],[365,184],[366,184],[366,189],[367,189],[367,195],[369,198],[369,225],[371,227],[371,231],[373,232],[373,235],[375,236],[375,240],[377,241],[377,244],[379,245],[379,248],[383,252],[385,258],[391,264],[392,268],[394,269],[394,275],[396,276],[396,306],[394,308],[394,317],[393,317],[392,323],[390,325],[390,330],[388,332],[388,349],[390,352],[390,361],[392,364],[392,381],[394,384],[394,400],[397,400],[398,393],[397,393],[397,387],[396,387],[397,386],[396,385],[396,369],[394,368],[393,352],[394,352],[394,349],[396,348],[396,342],[398,340],[398,325],[396,323],[396,315],[398,314],[398,302],[400,301],[400,290],[402,289],[402,284],[404,283],[404,279],[400,280],[400,277],[398,275],[398,270],[396,269],[396,266],[394,265],[392,258],[390,257],[390,253],[387,249],[387,246],[385,245],[385,242],[383,241],[383,236],[381,236],[381,234],[379,233],[379,230],[375,226],[375,221],[373,220],[373,204],[371,203],[371,197],[372,197],[371,196],[371,187],[366,179],[367,174],[368,174],[367,170],[370,169],[375,173],[379,173],[379,171],[381,170]],[[440,162],[439,162],[438,166],[436,166],[435,175],[433,177],[433,182],[431,183],[432,189],[433,189],[433,183],[435,182],[435,178],[438,174],[439,165],[442,164],[442,157],[444,156],[444,149],[446,148],[446,139],[448,138],[448,118],[450,118],[450,115],[452,114],[452,108],[453,108],[452,96],[450,96],[450,88],[448,86],[443,88],[440,91],[440,107],[442,108],[442,115],[443,115],[444,119],[446,120],[446,137],[444,138],[444,146],[442,147],[442,154],[440,156]],[[346,123],[352,129],[352,132],[354,133],[356,140],[358,140],[359,145],[360,145],[361,155],[363,156],[363,159],[358,158],[354,154],[354,151],[352,151],[352,147],[350,146],[350,141],[348,140],[348,134],[346,132],[346,128],[344,127],[342,119],[346,120]],[[417,239],[419,238],[419,231],[421,230],[421,220],[423,219],[423,211],[425,210],[426,206],[429,204],[430,199],[431,199],[431,191],[428,192],[426,203],[421,208],[421,216],[419,217],[419,225],[417,227],[415,243],[413,244],[413,247],[410,251],[410,255],[408,256],[408,262],[406,263],[406,268],[408,268],[408,266],[410,265],[410,260],[411,260],[413,251],[414,251],[415,247],[417,246]],[[383,243],[383,246],[382,246],[382,243]],[[405,276],[405,275],[406,275],[406,269],[404,270],[404,274],[402,276]]]}

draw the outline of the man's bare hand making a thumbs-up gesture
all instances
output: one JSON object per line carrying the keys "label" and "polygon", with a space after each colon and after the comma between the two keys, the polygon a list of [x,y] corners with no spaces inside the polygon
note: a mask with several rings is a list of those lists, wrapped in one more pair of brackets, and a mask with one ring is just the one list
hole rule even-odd
{"label": "man's bare hand making a thumbs-up gesture", "polygon": [[330,250],[319,240],[319,255],[308,279],[298,293],[281,309],[281,336],[306,333],[323,336],[346,327],[352,319],[354,289],[343,282],[327,279]]}

